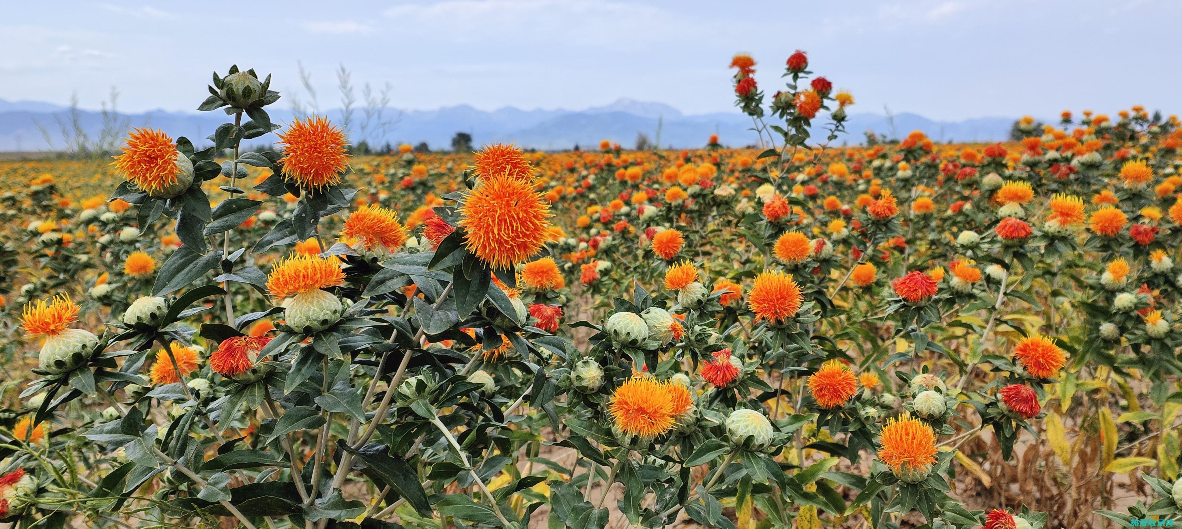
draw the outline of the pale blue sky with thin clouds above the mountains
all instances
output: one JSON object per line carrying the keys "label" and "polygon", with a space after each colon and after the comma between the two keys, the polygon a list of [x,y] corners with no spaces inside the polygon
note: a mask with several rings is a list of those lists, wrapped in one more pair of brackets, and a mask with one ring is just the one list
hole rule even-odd
{"label": "pale blue sky with thin clouds above the mountains", "polygon": [[[1182,112],[1178,0],[0,0],[0,99],[193,111],[215,70],[339,106],[336,70],[390,105],[579,110],[626,97],[730,111],[736,52],[768,94],[808,53],[853,111],[1056,117]],[[358,97],[361,94],[358,93]]]}

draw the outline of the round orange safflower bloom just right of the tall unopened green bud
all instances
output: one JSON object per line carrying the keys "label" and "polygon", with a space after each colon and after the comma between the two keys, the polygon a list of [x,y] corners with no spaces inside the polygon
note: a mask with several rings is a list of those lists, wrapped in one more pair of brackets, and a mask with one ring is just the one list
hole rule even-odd
{"label": "round orange safflower bloom just right of the tall unopened green bud", "polygon": [[340,174],[349,169],[345,132],[324,117],[296,119],[279,136],[284,144],[282,176],[300,189],[322,189],[340,183]]}

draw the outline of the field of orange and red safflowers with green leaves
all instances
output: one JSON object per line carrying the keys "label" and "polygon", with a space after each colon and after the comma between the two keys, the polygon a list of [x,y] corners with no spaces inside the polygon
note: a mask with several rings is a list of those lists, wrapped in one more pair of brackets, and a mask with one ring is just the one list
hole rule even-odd
{"label": "field of orange and red safflowers with green leaves", "polygon": [[355,157],[235,66],[208,139],[0,162],[0,518],[1173,524],[1178,119],[834,146],[781,60],[758,149]]}

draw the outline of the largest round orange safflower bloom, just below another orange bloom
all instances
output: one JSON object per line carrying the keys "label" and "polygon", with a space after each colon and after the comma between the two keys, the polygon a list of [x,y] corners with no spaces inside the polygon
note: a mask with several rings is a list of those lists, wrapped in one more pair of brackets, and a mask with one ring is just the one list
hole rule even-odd
{"label": "largest round orange safflower bloom, just below another orange bloom", "polygon": [[494,268],[532,257],[546,243],[550,205],[520,178],[494,176],[468,195],[460,209],[468,249]]}

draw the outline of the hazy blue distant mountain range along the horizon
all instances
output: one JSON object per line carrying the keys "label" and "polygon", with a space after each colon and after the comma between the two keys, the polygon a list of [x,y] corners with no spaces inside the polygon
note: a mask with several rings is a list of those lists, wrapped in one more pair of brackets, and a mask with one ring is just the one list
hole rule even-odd
{"label": "hazy blue distant mountain range along the horizon", "polygon": [[[272,120],[277,123],[287,123],[294,117],[281,104],[269,112]],[[339,109],[329,111],[327,116],[335,123],[342,123]],[[77,117],[80,130],[89,137],[97,138],[102,133],[102,112],[79,110]],[[759,143],[759,137],[751,129],[751,118],[738,111],[684,115],[662,103],[634,99],[619,99],[605,106],[577,111],[520,110],[512,106],[482,111],[469,105],[437,110],[385,109],[383,120],[390,120],[391,126],[384,133],[375,132],[378,129],[375,125],[363,135],[359,131],[363,119],[363,112],[355,109],[352,139],[365,139],[375,146],[387,142],[395,145],[427,142],[436,150],[449,149],[453,136],[461,131],[470,133],[478,146],[492,142],[515,142],[524,148],[541,150],[563,150],[574,145],[596,149],[602,139],[631,148],[637,133],[644,133],[650,141],[660,141],[662,146],[671,148],[704,145],[712,133],[719,135],[721,143],[729,146]],[[219,111],[197,113],[157,110],[119,116],[121,125],[163,129],[173,137],[188,137],[199,148],[208,145],[204,137],[226,122],[226,115]],[[937,122],[914,113],[894,115],[892,119],[876,113],[851,113],[846,123],[849,133],[836,143],[863,143],[863,132],[868,130],[881,138],[921,130],[936,141],[995,142],[1006,138],[1013,122],[1014,118],[1005,117]],[[371,119],[371,123],[376,123],[376,119]],[[67,107],[41,102],[0,99],[0,151],[61,150],[66,143],[65,136],[72,135],[64,133],[63,129],[73,129]],[[819,137],[821,133],[818,130],[813,136]],[[251,145],[272,143],[275,139],[268,135],[256,138]]]}

